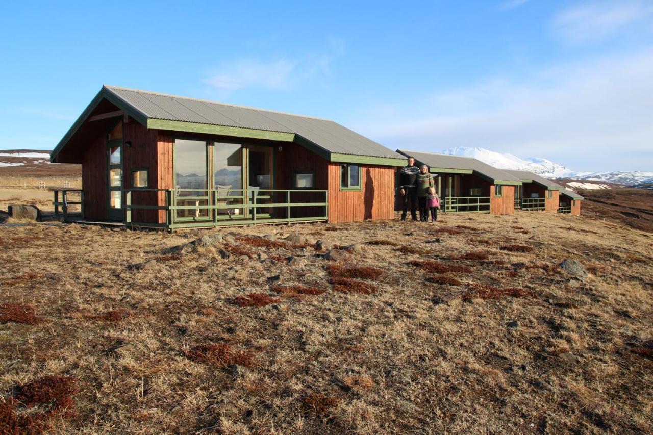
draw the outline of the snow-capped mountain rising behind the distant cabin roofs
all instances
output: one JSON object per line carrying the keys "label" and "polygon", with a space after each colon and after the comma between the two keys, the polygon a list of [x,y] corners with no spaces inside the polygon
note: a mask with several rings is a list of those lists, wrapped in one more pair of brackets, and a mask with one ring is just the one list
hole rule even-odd
{"label": "snow-capped mountain rising behind the distant cabin roofs", "polygon": [[485,148],[465,148],[457,146],[455,148],[443,150],[441,153],[474,157],[475,159],[479,159],[483,163],[487,163],[495,168],[528,170],[529,172],[534,172],[535,174],[546,178],[562,178],[577,175],[577,172],[548,159],[542,159],[540,157],[521,159],[520,157],[517,157],[517,155],[498,153],[486,150]]}

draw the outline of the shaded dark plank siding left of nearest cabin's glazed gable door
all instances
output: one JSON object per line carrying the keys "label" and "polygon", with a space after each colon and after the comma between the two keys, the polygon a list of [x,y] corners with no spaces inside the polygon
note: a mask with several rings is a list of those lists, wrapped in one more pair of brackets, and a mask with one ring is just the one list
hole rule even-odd
{"label": "shaded dark plank siding left of nearest cabin's glazed gable door", "polygon": [[98,135],[82,157],[82,187],[86,219],[105,220],[107,217],[108,170],[105,136]]}

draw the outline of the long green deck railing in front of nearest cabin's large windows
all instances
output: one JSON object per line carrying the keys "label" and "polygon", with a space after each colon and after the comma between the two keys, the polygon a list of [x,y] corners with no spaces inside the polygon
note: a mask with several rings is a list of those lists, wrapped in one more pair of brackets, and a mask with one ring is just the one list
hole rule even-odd
{"label": "long green deck railing in front of nearest cabin's large windows", "polygon": [[[327,190],[125,189],[124,195],[125,224],[135,227],[206,228],[326,221],[328,217]],[[303,197],[304,201],[299,201],[298,197]],[[151,205],[160,203],[163,205]],[[306,207],[315,207],[315,210],[310,210],[306,216],[296,216],[295,210]],[[165,223],[135,221],[134,210],[164,210]]]}

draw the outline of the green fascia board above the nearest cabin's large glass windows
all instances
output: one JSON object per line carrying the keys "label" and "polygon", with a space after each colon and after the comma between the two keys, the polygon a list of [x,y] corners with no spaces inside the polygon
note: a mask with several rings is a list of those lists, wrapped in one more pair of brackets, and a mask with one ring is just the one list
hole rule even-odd
{"label": "green fascia board above the nearest cabin's large glass windows", "polygon": [[225,125],[202,124],[198,122],[186,121],[169,121],[148,119],[148,129],[185,131],[189,133],[206,133],[208,135],[223,135],[234,137],[247,137],[267,140],[280,140],[283,142],[293,142],[295,133],[283,133],[280,131],[267,131],[257,129],[247,129],[245,127],[227,127]]}

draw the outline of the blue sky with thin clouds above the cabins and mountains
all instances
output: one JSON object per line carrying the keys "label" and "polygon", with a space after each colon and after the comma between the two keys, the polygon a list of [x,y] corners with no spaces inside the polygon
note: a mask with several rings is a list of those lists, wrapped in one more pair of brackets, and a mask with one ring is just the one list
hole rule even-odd
{"label": "blue sky with thin clouds above the cabins and mountains", "polygon": [[4,4],[0,149],[54,148],[113,84],[330,118],[392,149],[653,170],[653,1],[312,3]]}

